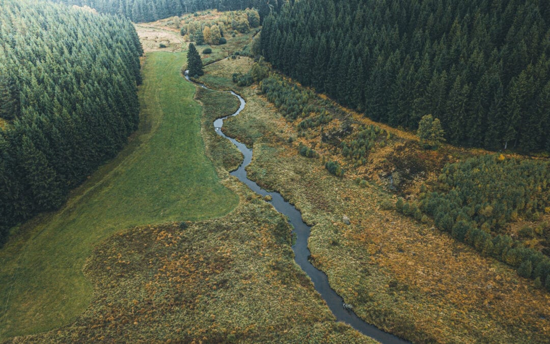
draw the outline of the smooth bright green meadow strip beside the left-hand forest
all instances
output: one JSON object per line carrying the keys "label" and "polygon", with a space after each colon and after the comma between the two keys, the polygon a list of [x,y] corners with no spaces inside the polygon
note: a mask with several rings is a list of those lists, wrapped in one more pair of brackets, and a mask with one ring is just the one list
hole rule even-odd
{"label": "smooth bright green meadow strip beside the left-hand forest", "polygon": [[124,228],[227,214],[238,197],[219,183],[200,135],[184,53],[149,53],[140,128],[114,161],[53,214],[19,228],[0,252],[0,339],[68,323],[89,304],[82,266],[94,245]]}

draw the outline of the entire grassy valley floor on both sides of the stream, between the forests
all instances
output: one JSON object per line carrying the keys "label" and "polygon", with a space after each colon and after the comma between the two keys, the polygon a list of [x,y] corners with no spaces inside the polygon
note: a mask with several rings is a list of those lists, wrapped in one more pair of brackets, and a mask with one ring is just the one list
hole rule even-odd
{"label": "entire grassy valley floor on both sides of the stream, between the forests", "polygon": [[[212,122],[237,99],[185,81],[185,42],[162,25],[138,26],[151,51],[127,148],[0,251],[0,341],[373,342],[334,321],[294,263],[283,216],[229,175],[241,154]],[[203,57],[227,56],[226,47]],[[249,177],[313,225],[313,264],[359,316],[414,342],[548,342],[548,293],[395,211],[380,175],[412,151],[414,135],[383,126],[397,139],[335,177],[323,162],[339,158],[319,128],[299,131],[301,119],[287,121],[257,85],[232,83],[251,65],[223,59],[201,81],[246,99],[223,131],[253,146]],[[348,113],[327,127],[343,121],[372,124]],[[319,155],[301,156],[300,143]],[[422,156],[455,159],[444,151]]]}

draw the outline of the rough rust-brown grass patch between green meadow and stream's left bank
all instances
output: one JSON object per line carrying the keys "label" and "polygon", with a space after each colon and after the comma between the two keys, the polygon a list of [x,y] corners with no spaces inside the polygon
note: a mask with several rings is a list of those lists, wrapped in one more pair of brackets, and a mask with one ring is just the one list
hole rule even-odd
{"label": "rough rust-brown grass patch between green meadow and stream's left bank", "polygon": [[[283,217],[240,182],[237,209],[216,220],[136,227],[86,261],[90,307],[25,342],[373,342],[334,321],[278,242]],[[18,342],[18,340],[15,340]]]}

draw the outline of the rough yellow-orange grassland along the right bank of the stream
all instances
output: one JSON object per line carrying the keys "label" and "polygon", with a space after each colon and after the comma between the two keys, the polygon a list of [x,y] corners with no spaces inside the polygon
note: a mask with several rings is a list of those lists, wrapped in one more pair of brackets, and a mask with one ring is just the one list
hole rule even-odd
{"label": "rough yellow-orange grassland along the right bank of the stream", "polygon": [[[249,177],[278,190],[315,225],[309,242],[316,266],[331,286],[354,305],[362,318],[390,332],[419,342],[546,342],[550,336],[550,296],[522,279],[513,269],[455,242],[431,227],[386,210],[395,198],[383,176],[397,163],[427,161],[442,166],[477,152],[445,146],[440,152],[417,150],[408,133],[376,148],[366,166],[353,168],[323,143],[320,128],[298,133],[301,121],[287,122],[253,89],[243,93],[250,116],[232,118],[224,127],[254,144]],[[334,119],[324,127],[357,127],[360,117]],[[262,124],[257,124],[262,123]],[[293,143],[288,142],[289,137]],[[298,155],[298,143],[321,157]],[[340,161],[344,178],[329,174],[326,159]],[[406,167],[406,166],[405,166]],[[416,174],[403,192],[417,187]],[[367,179],[359,185],[357,180]],[[389,207],[391,208],[391,207]],[[343,216],[350,225],[345,225]]]}

